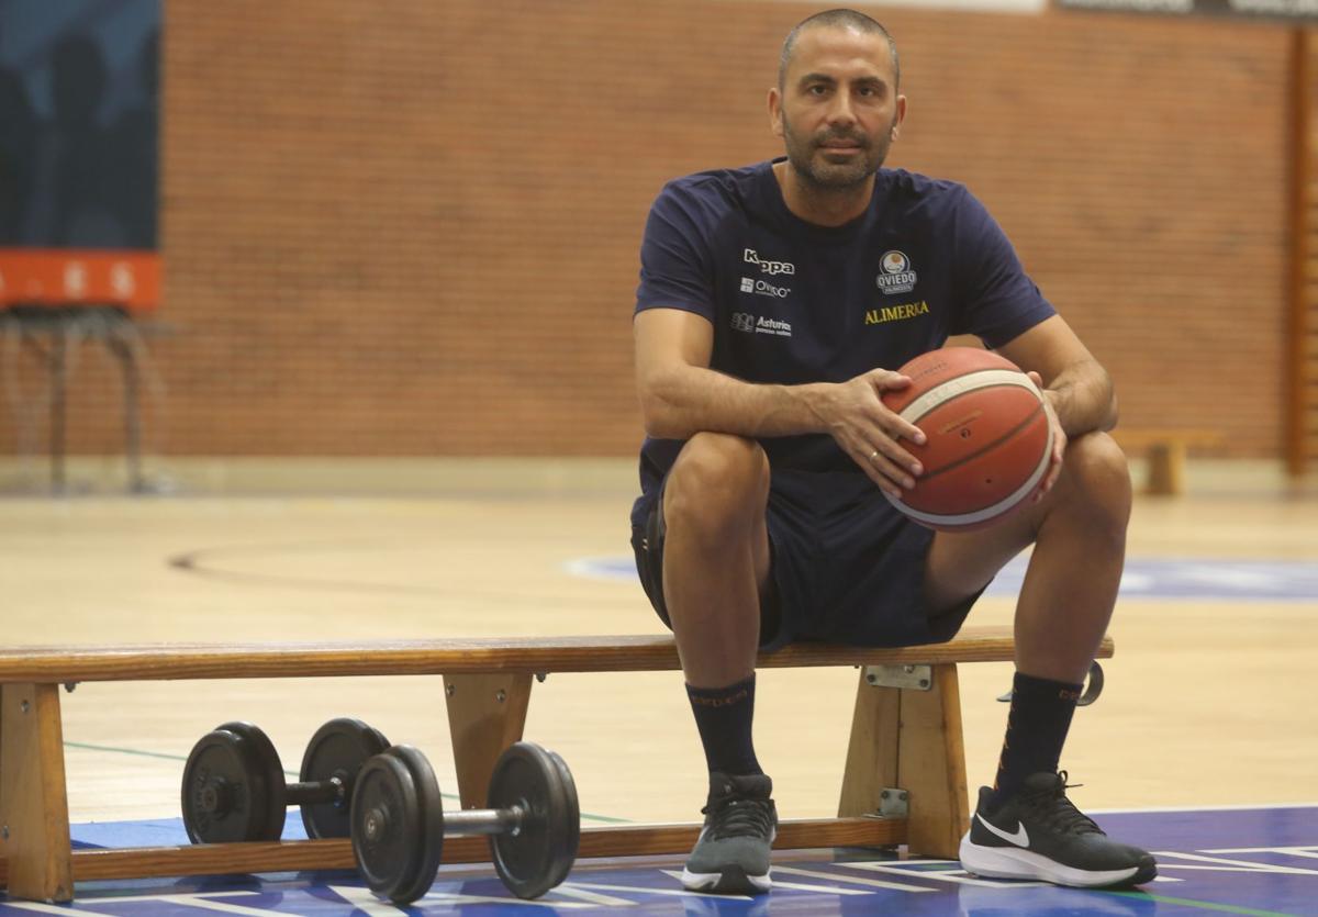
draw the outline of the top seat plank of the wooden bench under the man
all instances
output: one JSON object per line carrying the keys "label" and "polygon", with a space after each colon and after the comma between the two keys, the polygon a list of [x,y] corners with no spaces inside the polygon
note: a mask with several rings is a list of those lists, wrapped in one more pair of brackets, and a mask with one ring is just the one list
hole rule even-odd
{"label": "top seat plank of the wooden bench under the man", "polygon": [[[987,663],[1012,659],[1010,627],[966,627],[948,643],[867,648],[793,643],[760,656],[762,668]],[[1104,639],[1098,657],[1112,655]],[[358,643],[157,643],[8,647],[0,684],[318,679],[496,672],[666,672],[681,668],[672,636],[473,638]]]}

